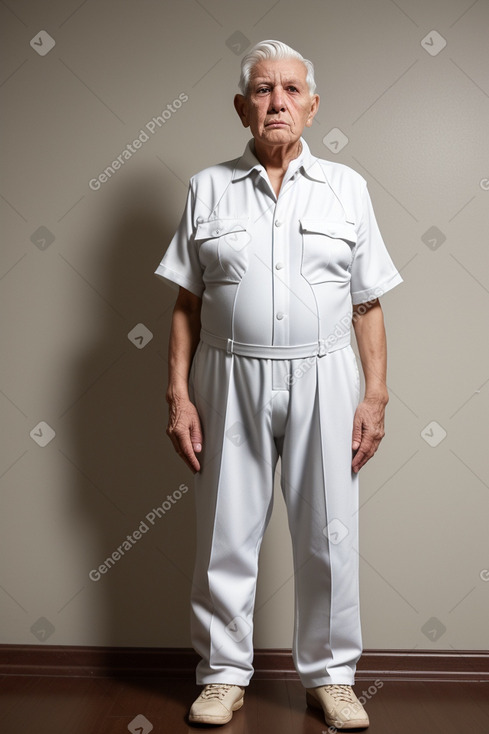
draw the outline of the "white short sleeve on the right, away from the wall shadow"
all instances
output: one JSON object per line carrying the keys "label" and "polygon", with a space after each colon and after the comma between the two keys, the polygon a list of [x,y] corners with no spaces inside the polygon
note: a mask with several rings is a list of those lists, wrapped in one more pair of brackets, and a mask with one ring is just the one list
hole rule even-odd
{"label": "white short sleeve on the right, away from the wall shadow", "polygon": [[365,184],[362,193],[361,219],[351,265],[350,290],[354,305],[379,298],[402,283],[392,262],[375,219]]}

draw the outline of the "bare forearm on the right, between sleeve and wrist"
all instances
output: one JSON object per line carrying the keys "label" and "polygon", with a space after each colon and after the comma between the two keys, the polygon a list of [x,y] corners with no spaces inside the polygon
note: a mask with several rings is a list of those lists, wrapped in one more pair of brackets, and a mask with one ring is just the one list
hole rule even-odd
{"label": "bare forearm on the right, between sleeve and wrist", "polygon": [[384,316],[379,301],[365,310],[354,309],[353,328],[365,376],[365,400],[387,404],[387,343]]}

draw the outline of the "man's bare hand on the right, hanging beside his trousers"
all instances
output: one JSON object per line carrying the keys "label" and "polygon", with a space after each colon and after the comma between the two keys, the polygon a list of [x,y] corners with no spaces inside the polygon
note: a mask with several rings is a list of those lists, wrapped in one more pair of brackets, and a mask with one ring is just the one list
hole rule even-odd
{"label": "man's bare hand on the right, hanging beside his trousers", "polygon": [[384,438],[385,401],[380,398],[364,398],[359,403],[353,419],[351,468],[358,473],[377,451]]}

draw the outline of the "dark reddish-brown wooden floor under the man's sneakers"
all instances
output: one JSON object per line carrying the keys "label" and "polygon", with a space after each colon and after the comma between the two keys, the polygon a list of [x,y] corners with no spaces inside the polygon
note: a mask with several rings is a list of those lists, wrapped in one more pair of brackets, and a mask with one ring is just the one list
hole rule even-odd
{"label": "dark reddish-brown wooden floor under the man's sneakers", "polygon": [[[488,734],[489,684],[386,681],[369,689],[369,734]],[[224,727],[192,727],[186,713],[199,688],[185,679],[0,678],[1,734],[330,734],[306,707],[299,682],[253,680],[244,707]]]}

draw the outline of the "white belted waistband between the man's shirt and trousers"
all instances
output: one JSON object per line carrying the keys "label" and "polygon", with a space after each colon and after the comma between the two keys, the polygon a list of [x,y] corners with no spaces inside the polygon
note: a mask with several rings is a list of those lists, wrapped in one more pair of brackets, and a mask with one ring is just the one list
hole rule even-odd
{"label": "white belted waistband between the man's shirt and trousers", "polygon": [[350,346],[350,335],[345,334],[341,339],[330,343],[331,339],[318,339],[310,344],[295,344],[292,346],[266,346],[263,344],[244,344],[224,336],[210,334],[204,329],[200,338],[211,347],[225,349],[228,354],[238,354],[241,357],[259,357],[261,359],[298,359],[303,357],[324,357],[330,352]]}

